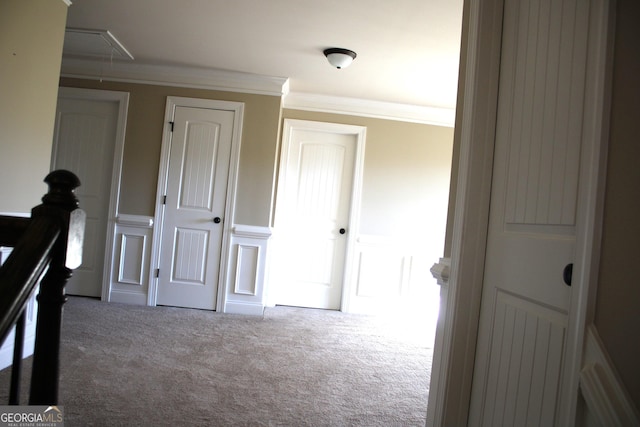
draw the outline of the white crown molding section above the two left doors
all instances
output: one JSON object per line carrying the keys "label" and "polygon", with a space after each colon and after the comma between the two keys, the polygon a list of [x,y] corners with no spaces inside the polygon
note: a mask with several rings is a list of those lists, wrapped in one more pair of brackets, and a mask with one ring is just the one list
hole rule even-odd
{"label": "white crown molding section above the two left doors", "polygon": [[284,96],[289,92],[286,77],[106,59],[63,57],[60,76],[271,96]]}

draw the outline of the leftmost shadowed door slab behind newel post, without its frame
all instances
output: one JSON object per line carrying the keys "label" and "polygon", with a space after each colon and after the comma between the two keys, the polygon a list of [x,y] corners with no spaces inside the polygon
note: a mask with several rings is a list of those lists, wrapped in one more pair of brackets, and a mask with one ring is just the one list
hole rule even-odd
{"label": "leftmost shadowed door slab behind newel post, without its frame", "polygon": [[80,178],[76,195],[87,213],[82,265],[67,283],[68,294],[102,294],[118,110],[117,101],[58,99],[52,168]]}

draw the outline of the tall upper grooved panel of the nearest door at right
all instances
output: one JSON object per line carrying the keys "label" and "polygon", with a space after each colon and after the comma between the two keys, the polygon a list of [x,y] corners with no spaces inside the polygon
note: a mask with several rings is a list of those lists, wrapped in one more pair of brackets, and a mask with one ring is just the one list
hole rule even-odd
{"label": "tall upper grooved panel of the nearest door at right", "polygon": [[503,69],[510,111],[501,116],[507,129],[498,130],[512,141],[505,220],[573,225],[586,66],[580,34],[587,31],[588,7],[572,0],[507,1],[505,14],[517,18],[504,28],[505,63],[513,64]]}

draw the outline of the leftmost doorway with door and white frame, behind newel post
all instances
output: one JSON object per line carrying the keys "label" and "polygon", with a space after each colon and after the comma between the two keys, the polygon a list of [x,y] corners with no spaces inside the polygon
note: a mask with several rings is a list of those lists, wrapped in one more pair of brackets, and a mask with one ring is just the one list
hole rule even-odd
{"label": "leftmost doorway with door and white frame, behind newel post", "polygon": [[[87,213],[82,265],[66,286],[71,295],[101,297],[108,283],[129,94],[61,87],[51,169],[80,178],[76,190]],[[106,256],[105,256],[106,253]]]}

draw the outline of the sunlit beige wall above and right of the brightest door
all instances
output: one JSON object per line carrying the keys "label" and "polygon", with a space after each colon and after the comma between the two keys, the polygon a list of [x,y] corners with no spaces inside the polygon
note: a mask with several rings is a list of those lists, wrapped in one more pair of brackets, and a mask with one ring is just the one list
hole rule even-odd
{"label": "sunlit beige wall above and right of the brightest door", "polygon": [[428,239],[442,256],[453,129],[393,120],[283,111],[283,118],[367,127],[360,234]]}

